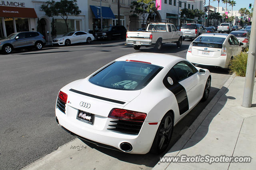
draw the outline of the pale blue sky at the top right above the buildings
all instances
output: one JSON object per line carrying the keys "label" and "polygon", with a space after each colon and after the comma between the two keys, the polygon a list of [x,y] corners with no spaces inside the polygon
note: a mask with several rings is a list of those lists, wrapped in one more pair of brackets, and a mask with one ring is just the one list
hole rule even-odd
{"label": "pale blue sky at the top right above the buildings", "polygon": [[[233,6],[233,10],[240,10],[240,8],[247,8],[249,9],[249,4],[252,4],[252,8],[254,5],[254,0],[234,0],[236,2],[236,5]],[[209,0],[205,0],[206,6],[209,4]],[[218,8],[218,1],[210,0],[210,5]],[[222,3],[222,0],[220,0],[220,6],[222,6],[224,9],[226,8],[226,4]],[[228,10],[232,9],[232,6],[227,6]]]}

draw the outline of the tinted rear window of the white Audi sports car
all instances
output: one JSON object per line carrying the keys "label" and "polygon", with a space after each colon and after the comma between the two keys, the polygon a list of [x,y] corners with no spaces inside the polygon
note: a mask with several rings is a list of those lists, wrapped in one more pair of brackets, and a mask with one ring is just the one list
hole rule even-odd
{"label": "tinted rear window of the white Audi sports car", "polygon": [[117,61],[89,78],[97,86],[117,90],[140,90],[162,70],[147,63]]}

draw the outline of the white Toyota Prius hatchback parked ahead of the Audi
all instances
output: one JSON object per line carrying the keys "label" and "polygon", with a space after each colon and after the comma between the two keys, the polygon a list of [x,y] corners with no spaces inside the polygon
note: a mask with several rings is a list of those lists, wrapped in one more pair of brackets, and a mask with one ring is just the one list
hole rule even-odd
{"label": "white Toyota Prius hatchback parked ahead of the Audi", "polygon": [[228,68],[230,59],[240,54],[243,43],[232,34],[204,33],[188,47],[191,63]]}

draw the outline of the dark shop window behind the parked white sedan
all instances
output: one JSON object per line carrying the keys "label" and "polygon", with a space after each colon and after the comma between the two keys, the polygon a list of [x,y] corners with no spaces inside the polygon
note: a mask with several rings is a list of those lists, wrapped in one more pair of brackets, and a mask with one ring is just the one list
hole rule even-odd
{"label": "dark shop window behind the parked white sedan", "polygon": [[[67,26],[66,23],[63,19],[56,19],[56,30],[57,30],[57,35],[64,35],[67,33]],[[68,19],[68,31],[75,31],[75,24],[74,20]]]}

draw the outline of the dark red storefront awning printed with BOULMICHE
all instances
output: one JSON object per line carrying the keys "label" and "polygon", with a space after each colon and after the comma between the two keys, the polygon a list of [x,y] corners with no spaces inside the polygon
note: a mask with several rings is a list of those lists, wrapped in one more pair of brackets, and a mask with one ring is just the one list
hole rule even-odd
{"label": "dark red storefront awning printed with BOULMICHE", "polygon": [[0,17],[37,18],[34,8],[0,6]]}

